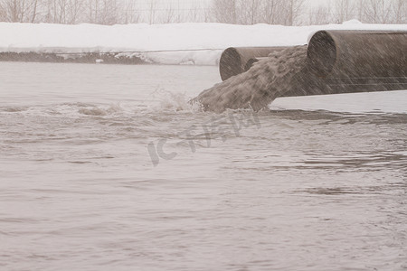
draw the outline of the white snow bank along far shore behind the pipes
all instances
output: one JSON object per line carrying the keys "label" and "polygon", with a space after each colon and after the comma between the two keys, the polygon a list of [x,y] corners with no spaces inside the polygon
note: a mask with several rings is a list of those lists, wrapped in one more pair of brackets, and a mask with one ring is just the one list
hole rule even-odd
{"label": "white snow bank along far shore behind the pipes", "polygon": [[310,34],[322,29],[407,31],[407,24],[364,24],[357,21],[313,26],[0,23],[0,51],[124,51],[124,55],[162,64],[216,65],[222,51],[228,47],[301,45],[308,42]]}

